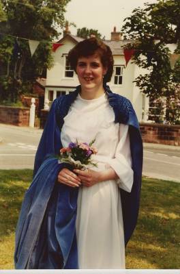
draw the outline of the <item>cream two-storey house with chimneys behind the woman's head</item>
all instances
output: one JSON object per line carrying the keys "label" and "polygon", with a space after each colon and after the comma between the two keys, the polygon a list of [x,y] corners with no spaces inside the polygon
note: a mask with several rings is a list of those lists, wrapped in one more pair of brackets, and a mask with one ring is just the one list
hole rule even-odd
{"label": "cream two-storey house with chimneys behind the woman's head", "polygon": [[[70,34],[68,27],[66,27],[63,38],[58,42],[63,45],[52,53],[54,66],[47,71],[44,101],[48,99],[52,102],[58,96],[68,94],[78,86],[78,77],[67,61],[67,53],[81,40],[83,39]],[[125,66],[123,46],[130,40],[122,40],[121,33],[117,32],[116,27],[114,27],[113,32],[111,32],[111,39],[104,40],[104,42],[112,50],[115,61],[112,79],[108,85],[113,92],[130,99],[136,110],[138,121],[147,121],[146,113],[149,108],[149,99],[140,92],[133,82],[138,75],[146,73],[146,71],[131,61]]]}

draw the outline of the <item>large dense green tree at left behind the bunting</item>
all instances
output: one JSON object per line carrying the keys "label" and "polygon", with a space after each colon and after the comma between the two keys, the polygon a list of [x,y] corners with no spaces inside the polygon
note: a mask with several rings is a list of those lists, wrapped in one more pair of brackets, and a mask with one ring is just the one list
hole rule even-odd
{"label": "large dense green tree at left behind the bunting", "polygon": [[[25,90],[23,85],[31,89],[37,76],[46,76],[46,69],[52,66],[51,41],[59,36],[57,27],[65,26],[64,12],[69,1],[1,0],[7,18],[0,23],[0,32],[7,34],[0,37],[0,57],[5,68],[0,71],[1,101],[16,101]],[[16,41],[10,35],[20,39]],[[29,39],[40,41],[32,58]],[[14,53],[14,42],[20,47],[18,56]]]}

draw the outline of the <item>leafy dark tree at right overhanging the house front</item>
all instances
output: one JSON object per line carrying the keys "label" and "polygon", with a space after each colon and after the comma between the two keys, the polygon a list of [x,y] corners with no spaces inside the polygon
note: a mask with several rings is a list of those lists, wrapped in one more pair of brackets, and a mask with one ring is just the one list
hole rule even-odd
{"label": "leafy dark tree at right overhanging the house front", "polygon": [[[135,79],[136,86],[153,100],[168,97],[169,94],[172,96],[172,93],[175,97],[180,63],[177,62],[174,70],[170,68],[170,51],[166,44],[177,43],[176,53],[180,53],[179,0],[158,0],[155,4],[145,3],[144,9],[136,8],[132,16],[125,18],[122,32],[124,38],[133,40],[126,47],[136,49],[134,62],[149,70],[149,73],[139,75]],[[177,107],[178,105],[175,106],[178,112]],[[168,116],[166,118],[168,119]],[[170,123],[174,122],[170,120]]]}

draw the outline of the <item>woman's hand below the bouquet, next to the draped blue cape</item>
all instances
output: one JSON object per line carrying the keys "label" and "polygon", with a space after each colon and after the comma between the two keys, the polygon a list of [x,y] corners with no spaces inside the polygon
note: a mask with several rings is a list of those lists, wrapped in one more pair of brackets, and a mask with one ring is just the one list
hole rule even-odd
{"label": "woman's hand below the bouquet, next to the draped blue cape", "polygon": [[72,186],[72,188],[76,188],[77,186],[81,185],[80,178],[75,173],[65,168],[61,169],[58,174],[57,180],[61,184]]}

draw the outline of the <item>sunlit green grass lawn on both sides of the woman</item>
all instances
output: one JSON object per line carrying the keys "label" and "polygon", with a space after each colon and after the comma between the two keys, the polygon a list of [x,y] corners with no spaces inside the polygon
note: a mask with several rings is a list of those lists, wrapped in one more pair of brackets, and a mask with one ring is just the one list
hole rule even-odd
{"label": "sunlit green grass lawn on both sides of the woman", "polygon": [[[13,269],[14,231],[33,171],[0,170],[0,269]],[[140,216],[127,269],[180,268],[180,184],[143,178]]]}

